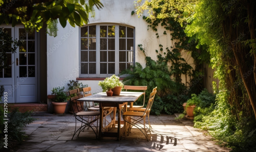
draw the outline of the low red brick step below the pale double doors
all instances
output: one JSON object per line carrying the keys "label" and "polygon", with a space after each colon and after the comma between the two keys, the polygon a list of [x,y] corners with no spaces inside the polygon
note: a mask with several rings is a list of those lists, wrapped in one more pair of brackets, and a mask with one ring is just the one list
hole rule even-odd
{"label": "low red brick step below the pale double doors", "polygon": [[20,112],[26,112],[27,110],[33,110],[34,112],[48,112],[47,104],[42,103],[21,103],[21,104],[8,104],[11,109],[19,107]]}

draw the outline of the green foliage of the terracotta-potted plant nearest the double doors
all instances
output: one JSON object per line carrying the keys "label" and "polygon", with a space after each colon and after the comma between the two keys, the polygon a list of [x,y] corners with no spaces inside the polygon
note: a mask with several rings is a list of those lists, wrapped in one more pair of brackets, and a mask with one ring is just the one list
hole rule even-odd
{"label": "green foliage of the terracotta-potted plant nearest the double doors", "polygon": [[52,99],[53,102],[67,102],[67,92],[64,91],[65,87],[56,87],[52,89],[52,95],[55,98]]}

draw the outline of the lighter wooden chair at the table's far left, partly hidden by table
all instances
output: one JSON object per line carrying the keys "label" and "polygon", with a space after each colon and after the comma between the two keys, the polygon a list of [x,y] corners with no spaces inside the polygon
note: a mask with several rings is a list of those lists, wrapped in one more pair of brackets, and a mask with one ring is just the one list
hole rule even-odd
{"label": "lighter wooden chair at the table's far left, partly hidden by table", "polygon": [[[83,88],[84,97],[92,95],[91,91],[92,91],[91,87]],[[85,104],[86,104],[86,107],[87,107],[88,111],[100,111],[99,106],[95,107],[94,102],[92,102],[92,101],[91,102],[86,101]],[[104,119],[104,121],[103,121],[103,123],[104,123],[105,126],[106,126],[106,122],[109,123],[109,121],[106,120],[106,116],[110,115],[111,112],[113,111],[113,109],[114,109],[113,107],[104,107],[104,110],[103,110],[103,119]],[[110,117],[111,117],[111,120],[112,120],[112,115],[110,115]],[[88,118],[88,120],[89,120],[89,118]],[[89,126],[88,126],[88,129],[89,129]]]}

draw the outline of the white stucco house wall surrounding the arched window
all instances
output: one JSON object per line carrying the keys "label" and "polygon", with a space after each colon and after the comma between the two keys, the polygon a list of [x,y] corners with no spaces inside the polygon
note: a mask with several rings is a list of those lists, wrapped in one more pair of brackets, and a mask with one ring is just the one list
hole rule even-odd
{"label": "white stucco house wall surrounding the arched window", "polygon": [[[145,55],[137,47],[142,44],[146,55],[157,60],[159,43],[156,32],[147,30],[148,23],[143,18],[138,18],[135,11],[134,0],[104,0],[101,1],[103,9],[95,8],[95,17],[89,18],[88,24],[93,23],[119,23],[133,26],[135,28],[135,62],[145,67]],[[145,13],[145,15],[147,15]],[[63,29],[59,25],[57,37],[47,36],[47,93],[51,94],[53,87],[65,86],[68,88],[68,80],[76,80],[79,77],[79,27],[73,28],[68,23]],[[166,31],[158,27],[158,34],[163,48],[172,46],[170,34],[163,34]],[[99,80],[80,80],[83,84],[91,86],[92,93],[101,92],[98,85]]]}

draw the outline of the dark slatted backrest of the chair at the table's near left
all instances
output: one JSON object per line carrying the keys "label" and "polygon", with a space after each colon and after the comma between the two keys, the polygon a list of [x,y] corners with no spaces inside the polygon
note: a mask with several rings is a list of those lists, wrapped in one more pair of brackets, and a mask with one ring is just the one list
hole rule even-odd
{"label": "dark slatted backrest of the chair at the table's near left", "polygon": [[[78,89],[70,90],[69,96],[70,96],[70,101],[71,101],[72,110],[73,110],[74,114],[76,114],[77,112],[81,112],[82,104],[81,104],[81,102],[77,101],[77,99],[80,99],[79,90]],[[75,105],[73,105],[73,104],[75,104]],[[78,104],[80,104],[81,108],[78,108]],[[74,108],[76,108],[76,109],[74,109]]]}

